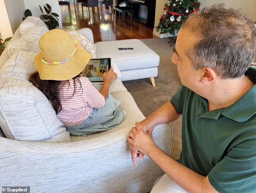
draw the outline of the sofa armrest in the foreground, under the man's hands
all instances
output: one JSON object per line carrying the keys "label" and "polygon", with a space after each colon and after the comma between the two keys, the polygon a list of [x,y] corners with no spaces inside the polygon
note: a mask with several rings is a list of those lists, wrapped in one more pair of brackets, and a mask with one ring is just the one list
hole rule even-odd
{"label": "sofa armrest in the foreground, under the man's hands", "polygon": [[[149,192],[164,172],[147,156],[138,160],[138,166],[133,165],[126,140],[128,130],[113,130],[106,136],[112,139],[107,143],[105,137],[72,143],[0,137],[0,184],[30,185],[31,192]],[[156,126],[153,138],[169,153],[172,129],[168,124]]]}

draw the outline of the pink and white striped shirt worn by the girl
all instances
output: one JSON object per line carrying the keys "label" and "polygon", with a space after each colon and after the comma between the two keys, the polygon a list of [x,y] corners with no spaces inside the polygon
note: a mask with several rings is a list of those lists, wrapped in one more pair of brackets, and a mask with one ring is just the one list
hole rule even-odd
{"label": "pink and white striped shirt worn by the girl", "polygon": [[[86,120],[92,112],[92,108],[101,108],[105,105],[105,98],[94,87],[88,78],[80,76],[80,83],[75,81],[76,92],[74,92],[74,80],[63,81],[59,86],[59,98],[62,109],[57,117],[66,126],[75,126]],[[72,97],[73,95],[73,97]]]}

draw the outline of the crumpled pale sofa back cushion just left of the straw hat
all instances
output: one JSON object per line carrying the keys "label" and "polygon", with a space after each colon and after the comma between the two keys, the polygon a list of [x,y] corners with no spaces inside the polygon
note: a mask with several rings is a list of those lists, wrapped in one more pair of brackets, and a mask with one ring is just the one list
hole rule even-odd
{"label": "crumpled pale sofa back cushion just left of the straw hat", "polygon": [[33,26],[26,30],[26,33],[16,40],[10,41],[6,46],[9,57],[18,50],[28,50],[33,52],[40,52],[38,42],[40,37],[48,31],[45,27]]}

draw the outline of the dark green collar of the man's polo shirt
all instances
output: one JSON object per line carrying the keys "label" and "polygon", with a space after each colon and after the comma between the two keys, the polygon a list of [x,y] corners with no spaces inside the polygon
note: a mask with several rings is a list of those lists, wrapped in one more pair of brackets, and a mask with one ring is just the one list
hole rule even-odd
{"label": "dark green collar of the man's polo shirt", "polygon": [[[250,76],[251,80],[256,83],[256,69],[250,67],[246,74]],[[206,105],[208,109],[208,101],[204,97],[199,99]],[[240,99],[229,107],[222,109],[215,109],[208,111],[201,115],[201,117],[211,118],[217,120],[220,115],[224,115],[229,119],[237,122],[246,122],[250,117],[256,113],[256,85],[254,85],[248,92],[246,92]]]}

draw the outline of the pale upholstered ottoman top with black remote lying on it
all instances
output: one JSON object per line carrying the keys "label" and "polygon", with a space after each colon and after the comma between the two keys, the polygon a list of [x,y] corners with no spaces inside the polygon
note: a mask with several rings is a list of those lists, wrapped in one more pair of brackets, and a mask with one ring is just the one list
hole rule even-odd
{"label": "pale upholstered ottoman top with black remote lying on it", "polygon": [[[121,72],[128,69],[157,67],[159,65],[159,55],[138,39],[97,42],[96,46],[97,58],[110,57]],[[133,48],[133,50],[118,50],[118,48]]]}

